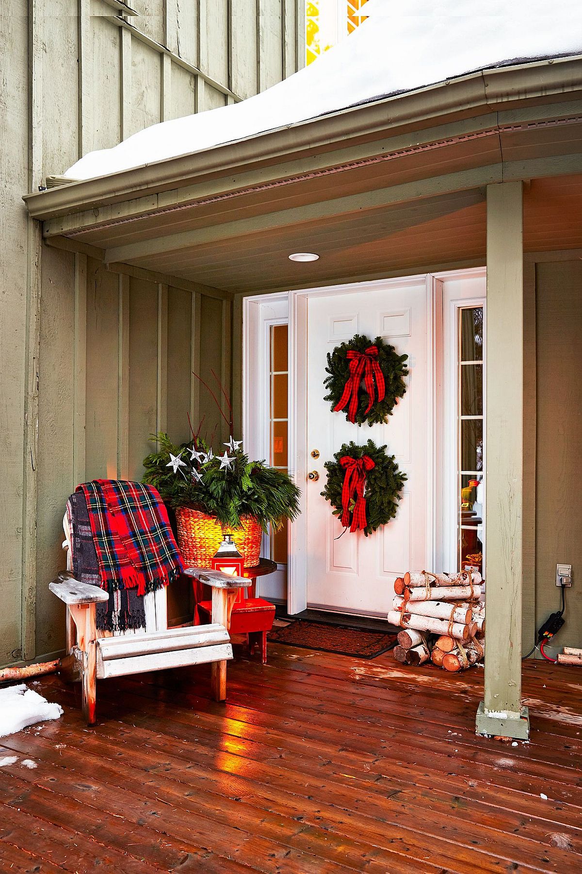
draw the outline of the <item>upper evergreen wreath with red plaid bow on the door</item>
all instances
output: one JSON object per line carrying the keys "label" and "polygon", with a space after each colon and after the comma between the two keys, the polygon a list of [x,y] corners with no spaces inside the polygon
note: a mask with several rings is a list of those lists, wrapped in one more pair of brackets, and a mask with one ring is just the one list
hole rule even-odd
{"label": "upper evergreen wreath with red plaid bow on the door", "polygon": [[[324,379],[327,389],[324,400],[331,401],[332,413],[345,401],[343,408],[346,408],[348,421],[358,425],[366,421],[370,427],[385,424],[397,400],[406,393],[407,357],[399,355],[381,336],[372,343],[369,337],[355,334],[347,343],[336,346],[327,353],[325,372],[328,376]],[[350,394],[352,399],[348,405]]]}

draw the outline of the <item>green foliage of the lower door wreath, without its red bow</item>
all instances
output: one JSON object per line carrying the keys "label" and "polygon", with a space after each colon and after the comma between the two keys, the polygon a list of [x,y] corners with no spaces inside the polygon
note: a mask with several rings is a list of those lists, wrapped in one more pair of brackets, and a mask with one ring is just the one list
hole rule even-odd
{"label": "green foliage of the lower door wreath, without its red bow", "polygon": [[[333,461],[325,462],[327,482],[321,495],[332,504],[332,513],[341,519],[344,512],[342,493],[345,493],[346,467],[340,459],[346,456],[359,461],[365,455],[373,461],[373,468],[366,470],[365,497],[365,527],[362,531],[366,537],[394,519],[398,510],[398,502],[407,475],[403,474],[396,464],[394,455],[388,455],[386,446],[377,447],[373,440],[368,440],[365,446],[357,446],[353,440],[344,445],[333,456]],[[353,513],[357,500],[351,498],[348,511],[353,522]],[[353,530],[353,529],[352,529]]]}

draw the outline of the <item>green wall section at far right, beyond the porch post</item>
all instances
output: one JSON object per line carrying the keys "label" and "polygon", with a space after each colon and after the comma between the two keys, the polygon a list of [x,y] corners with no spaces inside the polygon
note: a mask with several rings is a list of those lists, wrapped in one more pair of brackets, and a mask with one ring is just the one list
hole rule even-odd
{"label": "green wall section at far right, beyond the porch post", "polygon": [[572,564],[555,645],[582,647],[582,261],[536,265],[536,314],[536,624],[560,606],[556,565]]}

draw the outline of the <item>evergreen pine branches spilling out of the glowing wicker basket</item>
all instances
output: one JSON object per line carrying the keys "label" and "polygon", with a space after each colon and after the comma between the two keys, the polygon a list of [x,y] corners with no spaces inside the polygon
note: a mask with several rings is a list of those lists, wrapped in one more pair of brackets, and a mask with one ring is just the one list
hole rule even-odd
{"label": "evergreen pine branches spilling out of the glowing wicker basket", "polygon": [[[276,530],[299,512],[299,489],[282,470],[264,461],[250,461],[242,448],[229,449],[232,464],[221,468],[219,456],[209,456],[209,446],[198,438],[176,446],[168,434],[152,438],[158,451],[143,461],[143,482],[154,486],[173,509],[189,507],[215,516],[225,531],[241,525],[242,516],[254,516],[264,531]],[[191,459],[200,453],[207,457]],[[184,462],[176,472],[168,467],[170,454]],[[198,478],[199,477],[199,478]]]}

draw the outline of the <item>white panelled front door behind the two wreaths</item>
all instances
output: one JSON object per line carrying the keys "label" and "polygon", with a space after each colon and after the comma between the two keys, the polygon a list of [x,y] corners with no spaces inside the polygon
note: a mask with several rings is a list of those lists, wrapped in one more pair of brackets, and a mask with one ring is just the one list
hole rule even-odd
{"label": "white panelled front door behind the two wreaths", "polygon": [[[306,445],[300,446],[298,440],[298,451],[306,469],[319,474],[318,482],[305,479],[304,483],[306,515],[301,537],[305,542],[300,546],[305,556],[308,607],[385,616],[392,607],[394,579],[410,568],[430,565],[429,295],[430,285],[423,276],[359,283],[340,292],[325,289],[323,294],[305,296],[306,397],[300,397],[298,388],[298,403],[306,405]],[[356,333],[372,340],[382,336],[408,356],[407,392],[386,425],[353,425],[344,412],[332,413],[323,399],[326,354]],[[387,452],[396,456],[407,475],[398,515],[367,538],[359,531],[342,535],[338,517],[332,516],[330,504],[320,495],[325,485],[324,464],[343,443],[363,444],[369,438],[377,446],[387,444]],[[319,452],[317,460],[312,459],[314,449]]]}

